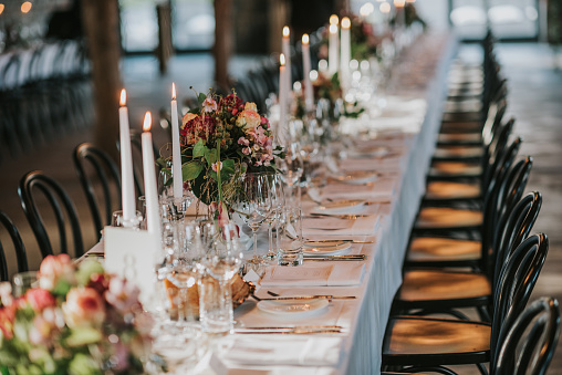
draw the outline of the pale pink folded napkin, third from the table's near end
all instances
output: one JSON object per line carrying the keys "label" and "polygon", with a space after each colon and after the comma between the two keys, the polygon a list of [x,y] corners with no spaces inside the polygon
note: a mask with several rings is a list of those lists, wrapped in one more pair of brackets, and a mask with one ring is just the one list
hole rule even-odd
{"label": "pale pink folded napkin, third from the table's near end", "polygon": [[302,235],[309,236],[373,236],[378,228],[378,216],[358,217],[356,219],[319,218],[304,219]]}

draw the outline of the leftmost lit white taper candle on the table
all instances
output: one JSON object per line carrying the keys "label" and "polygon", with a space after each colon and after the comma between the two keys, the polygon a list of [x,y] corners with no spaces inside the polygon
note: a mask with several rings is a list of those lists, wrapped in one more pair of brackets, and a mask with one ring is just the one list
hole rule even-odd
{"label": "leftmost lit white taper candle on the table", "polygon": [[123,88],[119,98],[121,200],[123,221],[132,222],[136,216],[135,183],[133,178],[133,154],[131,153],[131,131],[126,104],[127,92]]}

